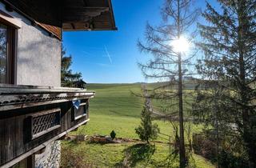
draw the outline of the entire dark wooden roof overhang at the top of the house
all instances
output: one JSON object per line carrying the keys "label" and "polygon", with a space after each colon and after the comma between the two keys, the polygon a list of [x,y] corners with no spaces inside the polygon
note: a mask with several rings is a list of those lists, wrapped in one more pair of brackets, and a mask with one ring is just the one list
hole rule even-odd
{"label": "entire dark wooden roof overhang at the top of the house", "polygon": [[62,30],[117,30],[111,0],[2,0],[58,38]]}

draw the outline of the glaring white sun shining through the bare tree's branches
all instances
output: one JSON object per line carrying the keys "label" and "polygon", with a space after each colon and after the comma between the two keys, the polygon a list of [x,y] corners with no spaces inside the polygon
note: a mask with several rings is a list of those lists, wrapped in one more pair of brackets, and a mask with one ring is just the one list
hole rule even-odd
{"label": "glaring white sun shining through the bare tree's branches", "polygon": [[186,38],[180,37],[171,42],[174,52],[186,52],[190,49],[190,43]]}

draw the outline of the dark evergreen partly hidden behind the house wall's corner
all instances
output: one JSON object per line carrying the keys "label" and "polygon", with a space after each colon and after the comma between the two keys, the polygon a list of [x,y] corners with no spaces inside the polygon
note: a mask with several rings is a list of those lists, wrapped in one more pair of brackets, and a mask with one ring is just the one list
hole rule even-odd
{"label": "dark evergreen partly hidden behind the house wall's corner", "polygon": [[62,86],[72,86],[73,82],[82,79],[81,73],[73,73],[70,70],[70,66],[72,64],[72,56],[66,56],[66,50],[62,48],[62,69],[61,69],[61,78],[62,78]]}

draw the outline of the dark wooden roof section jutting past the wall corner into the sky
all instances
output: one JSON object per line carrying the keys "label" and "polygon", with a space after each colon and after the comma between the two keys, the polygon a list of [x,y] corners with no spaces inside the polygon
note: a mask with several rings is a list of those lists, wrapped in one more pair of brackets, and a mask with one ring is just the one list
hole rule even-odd
{"label": "dark wooden roof section jutting past the wall corner into the sky", "polygon": [[65,0],[63,30],[117,30],[110,0]]}

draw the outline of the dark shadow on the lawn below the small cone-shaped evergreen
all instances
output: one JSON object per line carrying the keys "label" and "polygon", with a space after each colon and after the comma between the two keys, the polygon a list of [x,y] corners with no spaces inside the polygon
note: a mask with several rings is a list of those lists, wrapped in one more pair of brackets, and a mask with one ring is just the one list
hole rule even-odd
{"label": "dark shadow on the lawn below the small cone-shaped evergreen", "polygon": [[[124,157],[122,162],[118,162],[116,167],[134,167],[138,162],[146,161],[146,164],[150,161],[150,158],[154,154],[155,146],[139,143],[130,146],[123,150]],[[145,166],[146,167],[146,166]]]}

